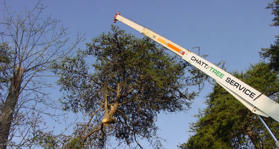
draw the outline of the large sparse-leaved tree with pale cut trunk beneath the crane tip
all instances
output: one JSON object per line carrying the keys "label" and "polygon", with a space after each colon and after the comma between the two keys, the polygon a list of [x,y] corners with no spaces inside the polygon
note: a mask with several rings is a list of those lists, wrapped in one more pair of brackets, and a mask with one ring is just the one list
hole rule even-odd
{"label": "large sparse-leaved tree with pale cut trunk beneath the crane tip", "polygon": [[76,126],[71,145],[104,148],[114,136],[119,145],[125,142],[132,148],[135,143],[141,148],[139,139],[146,139],[158,148],[157,114],[187,110],[197,95],[187,86],[198,85],[207,76],[148,38],[136,38],[116,26],[111,30],[77,56],[54,65],[65,92],[64,109],[82,111],[89,119]]}

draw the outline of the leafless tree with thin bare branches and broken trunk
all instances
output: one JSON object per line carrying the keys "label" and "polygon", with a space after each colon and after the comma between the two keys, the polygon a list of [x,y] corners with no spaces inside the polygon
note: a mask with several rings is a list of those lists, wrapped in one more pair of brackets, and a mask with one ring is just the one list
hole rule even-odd
{"label": "leafless tree with thin bare branches and broken trunk", "polygon": [[[29,147],[43,135],[42,114],[55,106],[44,88],[51,87],[44,77],[51,75],[51,64],[61,61],[82,41],[79,34],[66,47],[67,28],[60,20],[41,17],[46,8],[41,0],[31,10],[16,13],[2,3],[0,32],[0,147]],[[40,108],[40,105],[43,105]],[[49,116],[54,116],[49,114]],[[20,142],[13,142],[19,136]]]}

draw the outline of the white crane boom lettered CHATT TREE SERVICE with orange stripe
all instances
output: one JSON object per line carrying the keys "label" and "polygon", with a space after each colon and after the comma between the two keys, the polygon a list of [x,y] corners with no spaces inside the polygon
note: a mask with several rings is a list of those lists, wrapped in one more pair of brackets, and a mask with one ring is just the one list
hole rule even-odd
{"label": "white crane boom lettered CHATT TREE SERVICE with orange stripe", "polygon": [[279,148],[279,141],[261,117],[271,117],[279,122],[279,103],[254,89],[253,87],[249,86],[248,84],[244,83],[235,76],[206,61],[199,55],[196,55],[195,53],[184,49],[183,47],[153,32],[152,30],[123,17],[122,15],[120,15],[120,12],[115,15],[114,23],[117,20],[134,28],[141,34],[147,36],[158,44],[169,49],[176,55],[180,56],[183,60],[190,63],[203,73],[212,77],[218,84],[225,88],[230,94],[232,94],[236,99],[244,104],[251,112],[255,113],[259,117],[260,121],[263,123],[263,125],[275,141],[275,145]]}

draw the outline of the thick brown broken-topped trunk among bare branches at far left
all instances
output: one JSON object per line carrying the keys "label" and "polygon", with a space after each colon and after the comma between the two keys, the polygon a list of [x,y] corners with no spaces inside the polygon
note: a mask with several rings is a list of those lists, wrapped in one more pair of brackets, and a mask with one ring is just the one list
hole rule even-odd
{"label": "thick brown broken-topped trunk among bare branches at far left", "polygon": [[9,137],[9,131],[12,122],[13,112],[17,103],[19,96],[20,85],[22,82],[22,76],[24,73],[24,68],[16,67],[15,73],[11,79],[8,95],[4,106],[1,110],[0,115],[0,148],[6,149]]}

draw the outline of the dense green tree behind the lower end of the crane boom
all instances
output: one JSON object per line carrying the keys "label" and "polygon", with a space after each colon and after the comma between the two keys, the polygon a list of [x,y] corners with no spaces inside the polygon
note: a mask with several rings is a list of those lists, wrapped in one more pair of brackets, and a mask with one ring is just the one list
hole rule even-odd
{"label": "dense green tree behind the lower end of the crane boom", "polygon": [[[272,72],[268,64],[260,62],[251,65],[245,74],[233,74],[279,101],[278,72]],[[214,84],[206,104],[207,108],[196,115],[198,121],[191,124],[190,129],[194,134],[186,143],[180,145],[180,149],[276,148],[273,139],[256,115],[217,83]],[[265,121],[278,136],[279,123],[271,118],[265,118]]]}

